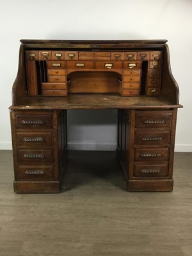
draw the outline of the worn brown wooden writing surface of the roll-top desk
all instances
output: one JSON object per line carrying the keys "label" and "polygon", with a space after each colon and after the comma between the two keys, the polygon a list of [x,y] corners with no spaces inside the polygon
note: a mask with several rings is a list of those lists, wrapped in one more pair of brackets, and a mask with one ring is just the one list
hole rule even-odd
{"label": "worn brown wooden writing surface of the roll-top desk", "polygon": [[68,97],[35,97],[10,109],[154,109],[181,108],[163,97],[121,97],[117,93],[72,93]]}

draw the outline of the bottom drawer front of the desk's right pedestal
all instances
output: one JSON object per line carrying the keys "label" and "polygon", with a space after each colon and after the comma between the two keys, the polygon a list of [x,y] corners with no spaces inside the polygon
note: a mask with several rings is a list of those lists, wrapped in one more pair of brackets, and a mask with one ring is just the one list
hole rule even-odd
{"label": "bottom drawer front of the desk's right pedestal", "polygon": [[134,177],[168,177],[168,164],[134,164]]}

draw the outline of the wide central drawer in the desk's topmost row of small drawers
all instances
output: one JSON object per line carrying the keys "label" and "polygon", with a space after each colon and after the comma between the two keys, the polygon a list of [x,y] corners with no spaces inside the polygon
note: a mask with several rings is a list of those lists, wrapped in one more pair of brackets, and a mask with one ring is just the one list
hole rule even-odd
{"label": "wide central drawer in the desk's topmost row of small drawers", "polygon": [[79,60],[111,60],[110,52],[79,52]]}

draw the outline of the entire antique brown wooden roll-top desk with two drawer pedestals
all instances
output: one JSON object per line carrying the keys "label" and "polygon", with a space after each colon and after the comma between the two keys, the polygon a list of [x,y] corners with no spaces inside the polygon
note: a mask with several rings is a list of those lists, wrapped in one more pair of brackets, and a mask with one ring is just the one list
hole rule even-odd
{"label": "entire antique brown wooden roll-top desk with two drawer pedestals", "polygon": [[68,109],[118,109],[128,191],[172,191],[179,86],[167,40],[20,40],[10,120],[16,193],[59,193]]}

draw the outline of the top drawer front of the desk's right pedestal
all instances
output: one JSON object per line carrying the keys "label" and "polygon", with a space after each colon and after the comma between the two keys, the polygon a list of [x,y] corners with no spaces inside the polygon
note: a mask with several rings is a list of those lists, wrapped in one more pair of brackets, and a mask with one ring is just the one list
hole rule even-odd
{"label": "top drawer front of the desk's right pedestal", "polygon": [[136,127],[171,127],[172,111],[136,111]]}

